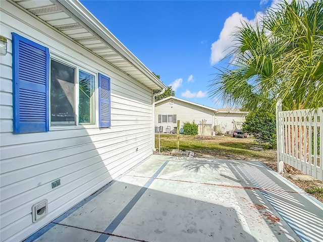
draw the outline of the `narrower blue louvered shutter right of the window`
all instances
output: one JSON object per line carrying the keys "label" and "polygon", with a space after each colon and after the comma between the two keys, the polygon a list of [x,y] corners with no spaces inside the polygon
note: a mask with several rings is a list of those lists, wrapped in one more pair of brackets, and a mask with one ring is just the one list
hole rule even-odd
{"label": "narrower blue louvered shutter right of the window", "polygon": [[99,73],[99,128],[111,126],[110,78]]}

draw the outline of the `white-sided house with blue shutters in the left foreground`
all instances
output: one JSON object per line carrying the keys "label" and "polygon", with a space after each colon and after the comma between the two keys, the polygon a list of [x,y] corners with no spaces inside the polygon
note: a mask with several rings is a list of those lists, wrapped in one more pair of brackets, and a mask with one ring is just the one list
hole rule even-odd
{"label": "white-sided house with blue shutters in the left foreground", "polygon": [[77,1],[0,16],[0,232],[20,241],[152,154],[166,86]]}

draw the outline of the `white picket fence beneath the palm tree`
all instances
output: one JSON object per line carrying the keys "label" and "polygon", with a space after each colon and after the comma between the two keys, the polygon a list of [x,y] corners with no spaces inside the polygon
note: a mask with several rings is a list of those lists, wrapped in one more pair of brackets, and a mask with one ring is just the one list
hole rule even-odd
{"label": "white picket fence beneath the palm tree", "polygon": [[323,108],[276,110],[278,171],[285,162],[323,181]]}

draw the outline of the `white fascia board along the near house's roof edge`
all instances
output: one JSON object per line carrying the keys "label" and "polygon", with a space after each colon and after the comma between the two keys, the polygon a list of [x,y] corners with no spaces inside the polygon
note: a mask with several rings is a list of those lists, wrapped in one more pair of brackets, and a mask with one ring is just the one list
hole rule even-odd
{"label": "white fascia board along the near house's roof edge", "polygon": [[[143,65],[142,62],[125,46],[120,40],[118,40],[93,14],[90,13],[79,1],[77,0],[50,0],[53,4],[65,10],[75,21],[82,23],[82,25],[88,28],[90,32],[96,35],[102,42],[120,54],[123,58],[127,59],[129,63],[134,65],[139,71],[141,71],[146,77],[152,80],[160,89],[167,88],[167,86],[161,82],[152,72]],[[72,16],[71,16],[72,14]],[[76,18],[76,19],[75,19]],[[109,39],[109,42],[107,41]]]}

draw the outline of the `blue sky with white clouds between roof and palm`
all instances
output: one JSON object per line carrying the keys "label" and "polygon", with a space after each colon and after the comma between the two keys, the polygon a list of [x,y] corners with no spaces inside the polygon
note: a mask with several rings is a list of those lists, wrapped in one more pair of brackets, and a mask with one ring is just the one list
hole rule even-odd
{"label": "blue sky with white clouds between roof and palm", "polygon": [[[254,22],[272,1],[81,1],[175,96],[221,108],[208,85],[241,20]],[[229,49],[228,49],[229,47]]]}

